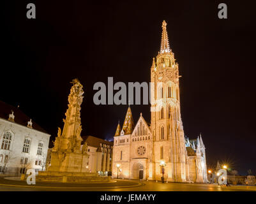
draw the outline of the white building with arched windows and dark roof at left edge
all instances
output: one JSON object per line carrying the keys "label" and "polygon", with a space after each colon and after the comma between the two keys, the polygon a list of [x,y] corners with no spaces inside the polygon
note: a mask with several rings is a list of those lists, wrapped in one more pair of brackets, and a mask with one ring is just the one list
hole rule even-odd
{"label": "white building with arched windows and dark roof at left edge", "polygon": [[19,108],[0,101],[0,173],[45,169],[50,135]]}

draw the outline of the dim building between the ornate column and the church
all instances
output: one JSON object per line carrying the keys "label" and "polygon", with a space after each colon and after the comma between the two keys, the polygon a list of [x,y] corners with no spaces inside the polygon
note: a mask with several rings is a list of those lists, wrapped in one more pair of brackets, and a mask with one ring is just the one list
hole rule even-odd
{"label": "dim building between the ornate column and the church", "polygon": [[88,169],[91,173],[107,175],[112,171],[113,142],[108,142],[94,136],[82,136],[82,144],[88,146]]}

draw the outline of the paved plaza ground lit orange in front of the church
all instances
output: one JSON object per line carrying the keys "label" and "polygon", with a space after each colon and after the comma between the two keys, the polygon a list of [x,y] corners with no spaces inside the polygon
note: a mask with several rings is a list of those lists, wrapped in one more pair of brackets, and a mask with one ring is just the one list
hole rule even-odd
{"label": "paved plaza ground lit orange in front of the church", "polygon": [[0,191],[256,191],[256,186],[218,186],[216,184],[164,183],[140,180],[112,180],[102,184],[63,184],[25,181],[0,177]]}

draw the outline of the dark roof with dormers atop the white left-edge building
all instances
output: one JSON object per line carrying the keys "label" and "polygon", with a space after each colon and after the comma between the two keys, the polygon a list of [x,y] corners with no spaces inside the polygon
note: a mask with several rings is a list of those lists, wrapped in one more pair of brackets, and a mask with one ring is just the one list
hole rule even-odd
{"label": "dark roof with dormers atop the white left-edge building", "polygon": [[[7,103],[4,103],[3,101],[0,101],[0,118],[8,120],[9,114],[13,111],[14,117],[14,123],[20,124],[22,126],[27,127],[27,122],[31,119],[31,117],[28,117],[24,112],[22,112],[19,108],[15,106],[11,106]],[[10,121],[13,122],[13,121]],[[45,129],[41,128],[34,120],[31,120],[32,129],[36,129],[37,131],[47,133]],[[49,134],[49,133],[47,133]]]}

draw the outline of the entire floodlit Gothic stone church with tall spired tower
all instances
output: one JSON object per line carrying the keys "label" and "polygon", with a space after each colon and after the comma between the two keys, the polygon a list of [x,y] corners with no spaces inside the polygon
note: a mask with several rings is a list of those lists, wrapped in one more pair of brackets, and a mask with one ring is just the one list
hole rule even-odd
{"label": "entire floodlit Gothic stone church with tall spired tower", "polygon": [[195,147],[184,137],[179,68],[169,47],[166,25],[163,21],[160,52],[150,69],[151,124],[140,113],[134,125],[129,106],[123,128],[118,124],[114,136],[113,176],[117,177],[118,171],[119,177],[127,179],[142,175],[143,179],[160,180],[164,168],[163,177],[170,182],[207,182],[202,137],[193,143]]}

